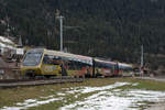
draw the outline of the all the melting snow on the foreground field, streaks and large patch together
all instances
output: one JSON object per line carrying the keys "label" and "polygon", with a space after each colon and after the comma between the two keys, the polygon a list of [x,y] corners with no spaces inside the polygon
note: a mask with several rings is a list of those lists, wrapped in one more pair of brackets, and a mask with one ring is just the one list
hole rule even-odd
{"label": "all the melting snow on the foreground field, streaks and large patch together", "polygon": [[[148,108],[148,103],[165,101],[165,92],[122,89],[123,86],[138,86],[139,84],[116,82],[103,87],[75,87],[63,88],[63,92],[54,92],[52,96],[41,97],[40,99],[28,99],[24,102],[18,102],[14,107],[3,107],[0,110],[22,110],[51,102],[63,101],[68,105],[57,108],[58,110],[140,110]],[[79,100],[81,95],[90,94]],[[74,95],[77,99],[69,102],[68,95]]]}

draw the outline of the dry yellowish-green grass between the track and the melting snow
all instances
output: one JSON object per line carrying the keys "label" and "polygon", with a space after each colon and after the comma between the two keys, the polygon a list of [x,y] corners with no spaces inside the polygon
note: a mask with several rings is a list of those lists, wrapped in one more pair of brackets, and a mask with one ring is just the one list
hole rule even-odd
{"label": "dry yellowish-green grass between the track and the melting snow", "polygon": [[[165,91],[165,82],[158,82],[153,80],[141,80],[134,78],[100,78],[100,79],[86,79],[84,82],[75,84],[58,84],[58,85],[46,85],[46,86],[36,86],[36,87],[23,87],[23,88],[13,88],[13,89],[0,89],[0,108],[4,106],[14,106],[16,102],[23,102],[26,99],[40,99],[40,97],[46,97],[55,95],[55,92],[63,92],[65,89],[70,87],[79,86],[91,86],[100,87],[106,85],[111,85],[117,81],[127,81],[127,82],[139,82],[138,86],[123,86],[122,89],[135,88],[135,89],[148,89],[148,90],[162,90]],[[87,97],[81,96],[80,99]],[[67,97],[69,100],[75,100],[72,96]],[[52,103],[50,103],[52,105]],[[63,102],[57,102],[56,106],[63,106]],[[46,106],[44,106],[45,108]],[[36,110],[36,109],[34,109]]]}

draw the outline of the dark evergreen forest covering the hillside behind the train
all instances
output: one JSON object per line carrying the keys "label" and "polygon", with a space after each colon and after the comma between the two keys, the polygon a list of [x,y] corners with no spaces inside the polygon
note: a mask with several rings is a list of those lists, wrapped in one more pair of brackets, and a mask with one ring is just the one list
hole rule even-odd
{"label": "dark evergreen forest covering the hillside behind the train", "polygon": [[70,53],[138,63],[143,44],[147,62],[165,55],[165,0],[0,0],[0,35],[9,24],[24,45],[59,50],[57,12]]}

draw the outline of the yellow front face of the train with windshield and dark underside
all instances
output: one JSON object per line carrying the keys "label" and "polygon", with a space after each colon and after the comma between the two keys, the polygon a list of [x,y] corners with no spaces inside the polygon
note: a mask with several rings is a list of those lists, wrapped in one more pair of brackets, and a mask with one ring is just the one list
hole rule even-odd
{"label": "yellow front face of the train with windshield and dark underside", "polygon": [[44,48],[34,48],[26,52],[21,64],[22,76],[35,77],[41,74]]}

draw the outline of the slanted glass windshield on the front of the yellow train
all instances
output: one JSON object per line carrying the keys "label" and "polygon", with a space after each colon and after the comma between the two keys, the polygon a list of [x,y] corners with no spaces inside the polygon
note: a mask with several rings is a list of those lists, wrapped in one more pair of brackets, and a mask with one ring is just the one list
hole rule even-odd
{"label": "slanted glass windshield on the front of the yellow train", "polygon": [[42,58],[41,52],[29,52],[25,55],[25,58],[23,61],[23,66],[36,66],[40,64],[40,61]]}

